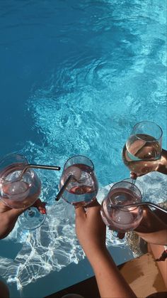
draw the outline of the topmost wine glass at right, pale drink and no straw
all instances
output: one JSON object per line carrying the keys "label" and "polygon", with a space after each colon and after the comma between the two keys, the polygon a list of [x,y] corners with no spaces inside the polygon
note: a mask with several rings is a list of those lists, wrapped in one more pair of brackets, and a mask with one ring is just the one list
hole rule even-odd
{"label": "topmost wine glass at right, pale drink and no straw", "polygon": [[122,159],[130,171],[138,176],[156,171],[161,159],[162,129],[154,122],[142,121],[134,125]]}

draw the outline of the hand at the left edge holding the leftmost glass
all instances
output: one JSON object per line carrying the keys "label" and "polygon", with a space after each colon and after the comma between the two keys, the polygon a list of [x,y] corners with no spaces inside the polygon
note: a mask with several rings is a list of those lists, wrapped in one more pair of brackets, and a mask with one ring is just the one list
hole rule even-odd
{"label": "hand at the left edge holding the leftmost glass", "polygon": [[[46,203],[40,201],[40,198],[38,198],[38,200],[34,203],[33,206],[38,208],[38,211],[40,213],[45,214],[45,205]],[[3,201],[0,200],[0,239],[5,238],[11,232],[11,230],[13,230],[18,216],[21,215],[21,213],[23,213],[25,210],[26,208],[10,208],[5,203],[3,203]]]}

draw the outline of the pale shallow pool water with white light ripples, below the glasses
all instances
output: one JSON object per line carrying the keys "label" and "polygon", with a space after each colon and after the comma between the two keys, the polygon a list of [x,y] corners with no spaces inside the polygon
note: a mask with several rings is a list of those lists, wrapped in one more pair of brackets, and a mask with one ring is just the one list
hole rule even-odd
{"label": "pale shallow pool water with white light ripples, below the glasses", "polygon": [[[162,174],[148,174],[140,177],[139,181],[145,188],[145,196],[148,201],[158,204],[166,201],[166,177],[164,178]],[[98,193],[99,203],[108,193],[110,186],[100,189]],[[159,193],[158,197],[157,193]],[[16,226],[5,241],[13,239],[22,242],[23,248],[18,252],[15,260],[0,258],[1,277],[9,283],[16,282],[18,289],[22,289],[30,282],[35,282],[52,271],[59,271],[71,262],[77,264],[79,260],[84,259],[84,252],[74,232],[74,223],[68,223],[64,218],[66,206],[67,203],[60,201],[47,208],[45,223],[33,233],[26,234],[26,240],[21,238],[23,232]],[[107,233],[106,243],[110,247],[110,233]]]}

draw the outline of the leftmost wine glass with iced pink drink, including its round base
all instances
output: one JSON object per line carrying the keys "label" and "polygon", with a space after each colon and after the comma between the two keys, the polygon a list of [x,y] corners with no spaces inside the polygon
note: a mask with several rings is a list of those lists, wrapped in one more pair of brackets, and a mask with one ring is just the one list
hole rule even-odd
{"label": "leftmost wine glass with iced pink drink, including its round base", "polygon": [[41,181],[32,169],[21,172],[28,165],[25,156],[8,154],[0,161],[0,199],[10,208],[28,208],[19,216],[21,228],[34,230],[45,221],[46,215],[41,214],[33,206],[41,191]]}

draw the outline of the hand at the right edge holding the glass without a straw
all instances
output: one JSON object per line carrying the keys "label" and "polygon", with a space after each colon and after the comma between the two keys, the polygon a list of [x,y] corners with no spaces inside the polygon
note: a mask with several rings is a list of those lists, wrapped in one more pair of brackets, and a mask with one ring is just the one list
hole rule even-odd
{"label": "hand at the right edge holding the glass without a straw", "polygon": [[167,150],[162,149],[161,159],[156,161],[137,161],[135,163],[135,172],[130,172],[132,179],[150,173],[151,171],[159,171],[161,174],[167,175]]}

